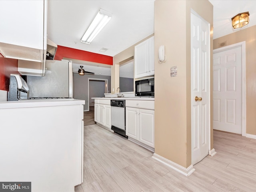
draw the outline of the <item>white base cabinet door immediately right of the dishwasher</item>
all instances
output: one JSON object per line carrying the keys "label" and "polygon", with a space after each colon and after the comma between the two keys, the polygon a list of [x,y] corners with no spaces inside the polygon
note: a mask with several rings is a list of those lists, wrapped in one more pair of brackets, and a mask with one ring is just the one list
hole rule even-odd
{"label": "white base cabinet door immediately right of the dishwasher", "polygon": [[126,135],[139,140],[138,108],[126,107]]}

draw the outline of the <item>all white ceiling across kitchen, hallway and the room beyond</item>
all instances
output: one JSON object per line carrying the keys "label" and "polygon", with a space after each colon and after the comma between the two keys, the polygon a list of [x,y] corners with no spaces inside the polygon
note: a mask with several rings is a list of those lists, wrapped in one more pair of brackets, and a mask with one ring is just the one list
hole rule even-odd
{"label": "all white ceiling across kitchen, hallway and the room beyond", "polygon": [[[256,24],[256,0],[209,0],[214,6],[213,38]],[[90,45],[80,39],[100,8],[111,12],[112,19]],[[231,18],[250,12],[250,22],[234,30]],[[60,46],[115,56],[154,33],[154,0],[49,0],[48,38]],[[107,48],[106,52],[100,52]],[[79,63],[78,63],[79,62]],[[110,75],[110,66],[73,61],[73,71],[84,70]]]}

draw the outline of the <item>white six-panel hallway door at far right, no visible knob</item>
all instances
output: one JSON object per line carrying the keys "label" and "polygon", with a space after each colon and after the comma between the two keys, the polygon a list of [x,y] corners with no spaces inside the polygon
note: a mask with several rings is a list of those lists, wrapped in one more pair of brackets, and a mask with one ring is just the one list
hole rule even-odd
{"label": "white six-panel hallway door at far right, no visible knob", "polygon": [[242,47],[213,54],[213,128],[242,134]]}

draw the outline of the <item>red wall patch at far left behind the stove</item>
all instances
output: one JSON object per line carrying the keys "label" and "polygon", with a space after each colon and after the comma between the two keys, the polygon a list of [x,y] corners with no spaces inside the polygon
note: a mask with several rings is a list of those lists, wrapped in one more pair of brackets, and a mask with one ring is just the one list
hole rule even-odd
{"label": "red wall patch at far left behind the stove", "polygon": [[0,54],[0,90],[9,90],[10,74],[19,74],[18,60],[4,58]]}

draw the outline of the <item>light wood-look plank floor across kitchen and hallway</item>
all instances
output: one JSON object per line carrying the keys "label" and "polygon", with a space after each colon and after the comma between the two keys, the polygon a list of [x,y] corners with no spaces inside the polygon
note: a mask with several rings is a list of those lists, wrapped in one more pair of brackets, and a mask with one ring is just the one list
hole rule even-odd
{"label": "light wood-look plank floor across kitchen and hallway", "polygon": [[84,126],[84,182],[76,192],[254,192],[256,140],[214,131],[217,154],[186,177],[97,124]]}

